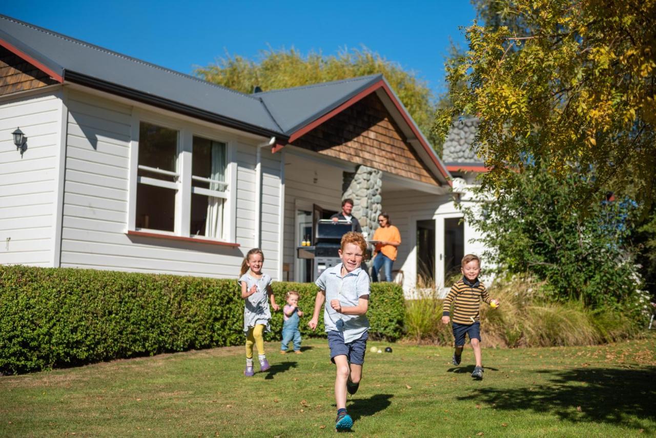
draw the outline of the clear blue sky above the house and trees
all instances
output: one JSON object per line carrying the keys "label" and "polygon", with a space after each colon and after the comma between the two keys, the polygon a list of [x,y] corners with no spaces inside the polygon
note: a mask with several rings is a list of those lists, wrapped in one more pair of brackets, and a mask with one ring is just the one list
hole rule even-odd
{"label": "clear blue sky above the house and trees", "polygon": [[334,55],[365,46],[436,94],[445,89],[449,38],[463,46],[459,27],[474,20],[468,0],[3,3],[1,14],[184,73],[226,53],[255,59],[268,47]]}

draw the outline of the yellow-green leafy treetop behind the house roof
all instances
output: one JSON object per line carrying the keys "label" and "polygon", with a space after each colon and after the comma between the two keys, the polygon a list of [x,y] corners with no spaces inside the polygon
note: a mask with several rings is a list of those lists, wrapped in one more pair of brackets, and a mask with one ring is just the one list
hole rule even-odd
{"label": "yellow-green leafy treetop behind the house roof", "polygon": [[436,142],[438,137],[432,131],[435,97],[426,81],[368,49],[341,51],[333,56],[321,53],[304,56],[295,49],[269,49],[262,51],[258,60],[226,56],[214,64],[196,68],[194,73],[205,81],[242,93],[251,93],[255,86],[270,91],[382,73],[419,129],[437,145],[441,154],[441,142]]}

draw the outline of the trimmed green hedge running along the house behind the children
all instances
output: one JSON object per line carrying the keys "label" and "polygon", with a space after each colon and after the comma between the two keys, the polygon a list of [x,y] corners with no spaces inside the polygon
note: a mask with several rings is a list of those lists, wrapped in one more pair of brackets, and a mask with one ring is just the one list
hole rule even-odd
{"label": "trimmed green hedge running along the house behind the children", "polygon": [[[311,332],[317,288],[274,282],[277,303],[300,293],[302,336]],[[373,338],[401,337],[403,292],[372,284],[367,317]],[[274,313],[268,340],[281,337]],[[236,280],[92,269],[0,266],[0,372],[13,374],[170,351],[241,345],[243,299]]]}

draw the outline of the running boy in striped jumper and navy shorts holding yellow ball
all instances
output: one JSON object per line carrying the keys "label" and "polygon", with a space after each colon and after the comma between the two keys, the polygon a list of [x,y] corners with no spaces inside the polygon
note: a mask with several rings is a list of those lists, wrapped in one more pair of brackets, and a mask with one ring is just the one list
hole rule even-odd
{"label": "running boy in striped jumper and navy shorts holding yellow ball", "polygon": [[455,338],[455,352],[453,353],[453,364],[459,365],[464,347],[464,336],[469,335],[469,340],[474,349],[476,366],[472,377],[483,378],[483,365],[481,362],[481,330],[480,330],[480,304],[481,299],[492,307],[499,307],[499,301],[491,298],[483,283],[478,280],[481,273],[481,261],[474,254],[462,257],[462,278],[451,286],[449,295],[444,299],[442,322],[449,324],[449,314],[453,303],[453,337]]}

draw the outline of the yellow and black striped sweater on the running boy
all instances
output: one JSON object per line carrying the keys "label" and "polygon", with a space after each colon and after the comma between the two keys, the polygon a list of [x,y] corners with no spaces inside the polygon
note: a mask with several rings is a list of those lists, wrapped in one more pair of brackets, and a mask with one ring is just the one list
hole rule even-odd
{"label": "yellow and black striped sweater on the running boy", "polygon": [[449,316],[451,303],[453,303],[451,320],[458,324],[474,324],[474,322],[480,320],[481,299],[487,304],[492,299],[487,294],[487,289],[485,289],[483,283],[477,279],[474,284],[471,284],[463,277],[451,286],[449,295],[444,299],[442,316]]}

